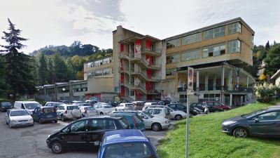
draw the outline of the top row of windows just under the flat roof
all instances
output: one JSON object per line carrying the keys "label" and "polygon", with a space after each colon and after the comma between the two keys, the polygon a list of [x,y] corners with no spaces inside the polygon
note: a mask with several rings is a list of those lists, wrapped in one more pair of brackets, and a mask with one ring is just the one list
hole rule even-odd
{"label": "top row of windows just under the flat roof", "polygon": [[[228,25],[228,34],[241,33],[241,24],[239,22]],[[225,36],[225,25],[208,29],[203,32],[203,40],[214,39]],[[190,34],[186,37],[182,37],[182,45],[193,44],[202,41],[202,32]],[[180,39],[172,39],[167,41],[167,48],[173,48],[180,46]]]}

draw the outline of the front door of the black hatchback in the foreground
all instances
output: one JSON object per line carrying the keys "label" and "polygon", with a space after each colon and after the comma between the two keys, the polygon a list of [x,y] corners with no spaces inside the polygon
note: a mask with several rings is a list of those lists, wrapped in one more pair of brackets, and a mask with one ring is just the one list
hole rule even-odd
{"label": "front door of the black hatchback in the foreground", "polygon": [[73,122],[64,135],[66,145],[69,147],[83,147],[87,145],[86,132],[88,131],[88,119]]}

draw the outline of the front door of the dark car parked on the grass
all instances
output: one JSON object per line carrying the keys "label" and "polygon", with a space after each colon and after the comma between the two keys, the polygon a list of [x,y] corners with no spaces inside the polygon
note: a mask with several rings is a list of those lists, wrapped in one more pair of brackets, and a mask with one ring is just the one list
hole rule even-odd
{"label": "front door of the dark car parked on the grass", "polygon": [[280,136],[280,110],[259,114],[250,122],[253,135]]}

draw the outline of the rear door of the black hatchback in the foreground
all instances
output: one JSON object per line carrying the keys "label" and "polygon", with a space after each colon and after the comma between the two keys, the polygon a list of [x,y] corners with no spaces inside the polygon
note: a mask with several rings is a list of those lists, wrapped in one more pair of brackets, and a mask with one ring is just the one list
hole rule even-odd
{"label": "rear door of the black hatchback in the foreground", "polygon": [[89,131],[86,132],[87,145],[98,146],[106,131],[106,119],[94,118],[90,119]]}

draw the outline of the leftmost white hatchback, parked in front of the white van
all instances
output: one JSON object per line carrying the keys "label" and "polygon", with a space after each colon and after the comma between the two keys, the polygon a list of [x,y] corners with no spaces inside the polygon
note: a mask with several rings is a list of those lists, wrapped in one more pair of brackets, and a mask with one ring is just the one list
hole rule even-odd
{"label": "leftmost white hatchback, parked in front of the white van", "polygon": [[12,129],[15,126],[33,126],[34,121],[29,112],[23,109],[8,110],[5,116],[6,124]]}

